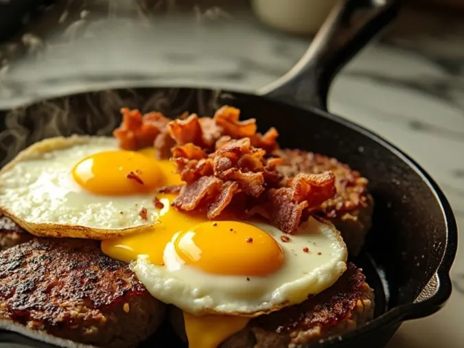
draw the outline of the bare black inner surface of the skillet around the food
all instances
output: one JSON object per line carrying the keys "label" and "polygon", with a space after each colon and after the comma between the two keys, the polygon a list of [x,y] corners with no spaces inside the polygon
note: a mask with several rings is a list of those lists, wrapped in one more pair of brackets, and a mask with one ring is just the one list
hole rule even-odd
{"label": "bare black inner surface of the skillet around the food", "polygon": [[[261,131],[275,126],[282,147],[334,156],[369,178],[375,199],[373,227],[362,255],[353,261],[364,268],[375,288],[377,316],[415,301],[437,271],[448,242],[439,200],[422,174],[402,155],[321,111],[294,108],[255,95],[206,89],[82,93],[0,111],[0,165],[46,137],[111,135],[121,121],[119,109],[123,106],[176,117],[184,111],[212,115],[223,104],[240,108],[242,118],[255,117]],[[156,347],[160,347],[157,342]],[[172,347],[172,343],[165,347]]]}

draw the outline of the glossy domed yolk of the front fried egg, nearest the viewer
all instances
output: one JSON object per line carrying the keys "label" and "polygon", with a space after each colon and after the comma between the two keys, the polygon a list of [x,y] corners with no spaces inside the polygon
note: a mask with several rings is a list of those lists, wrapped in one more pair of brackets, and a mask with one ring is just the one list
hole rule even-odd
{"label": "glossy domed yolk of the front fried egg, nearest the viewer", "polygon": [[279,270],[284,261],[272,236],[238,221],[198,224],[178,235],[174,247],[185,264],[216,275],[264,277]]}

